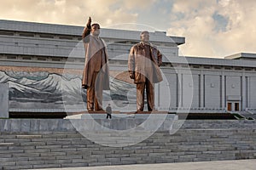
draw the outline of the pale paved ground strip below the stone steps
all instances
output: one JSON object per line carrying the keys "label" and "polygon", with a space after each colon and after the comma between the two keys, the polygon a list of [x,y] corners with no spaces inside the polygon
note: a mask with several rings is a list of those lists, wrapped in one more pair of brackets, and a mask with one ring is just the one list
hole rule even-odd
{"label": "pale paved ground strip below the stone steps", "polygon": [[256,159],[234,161],[196,161],[183,163],[137,164],[103,167],[49,168],[50,170],[255,170]]}

